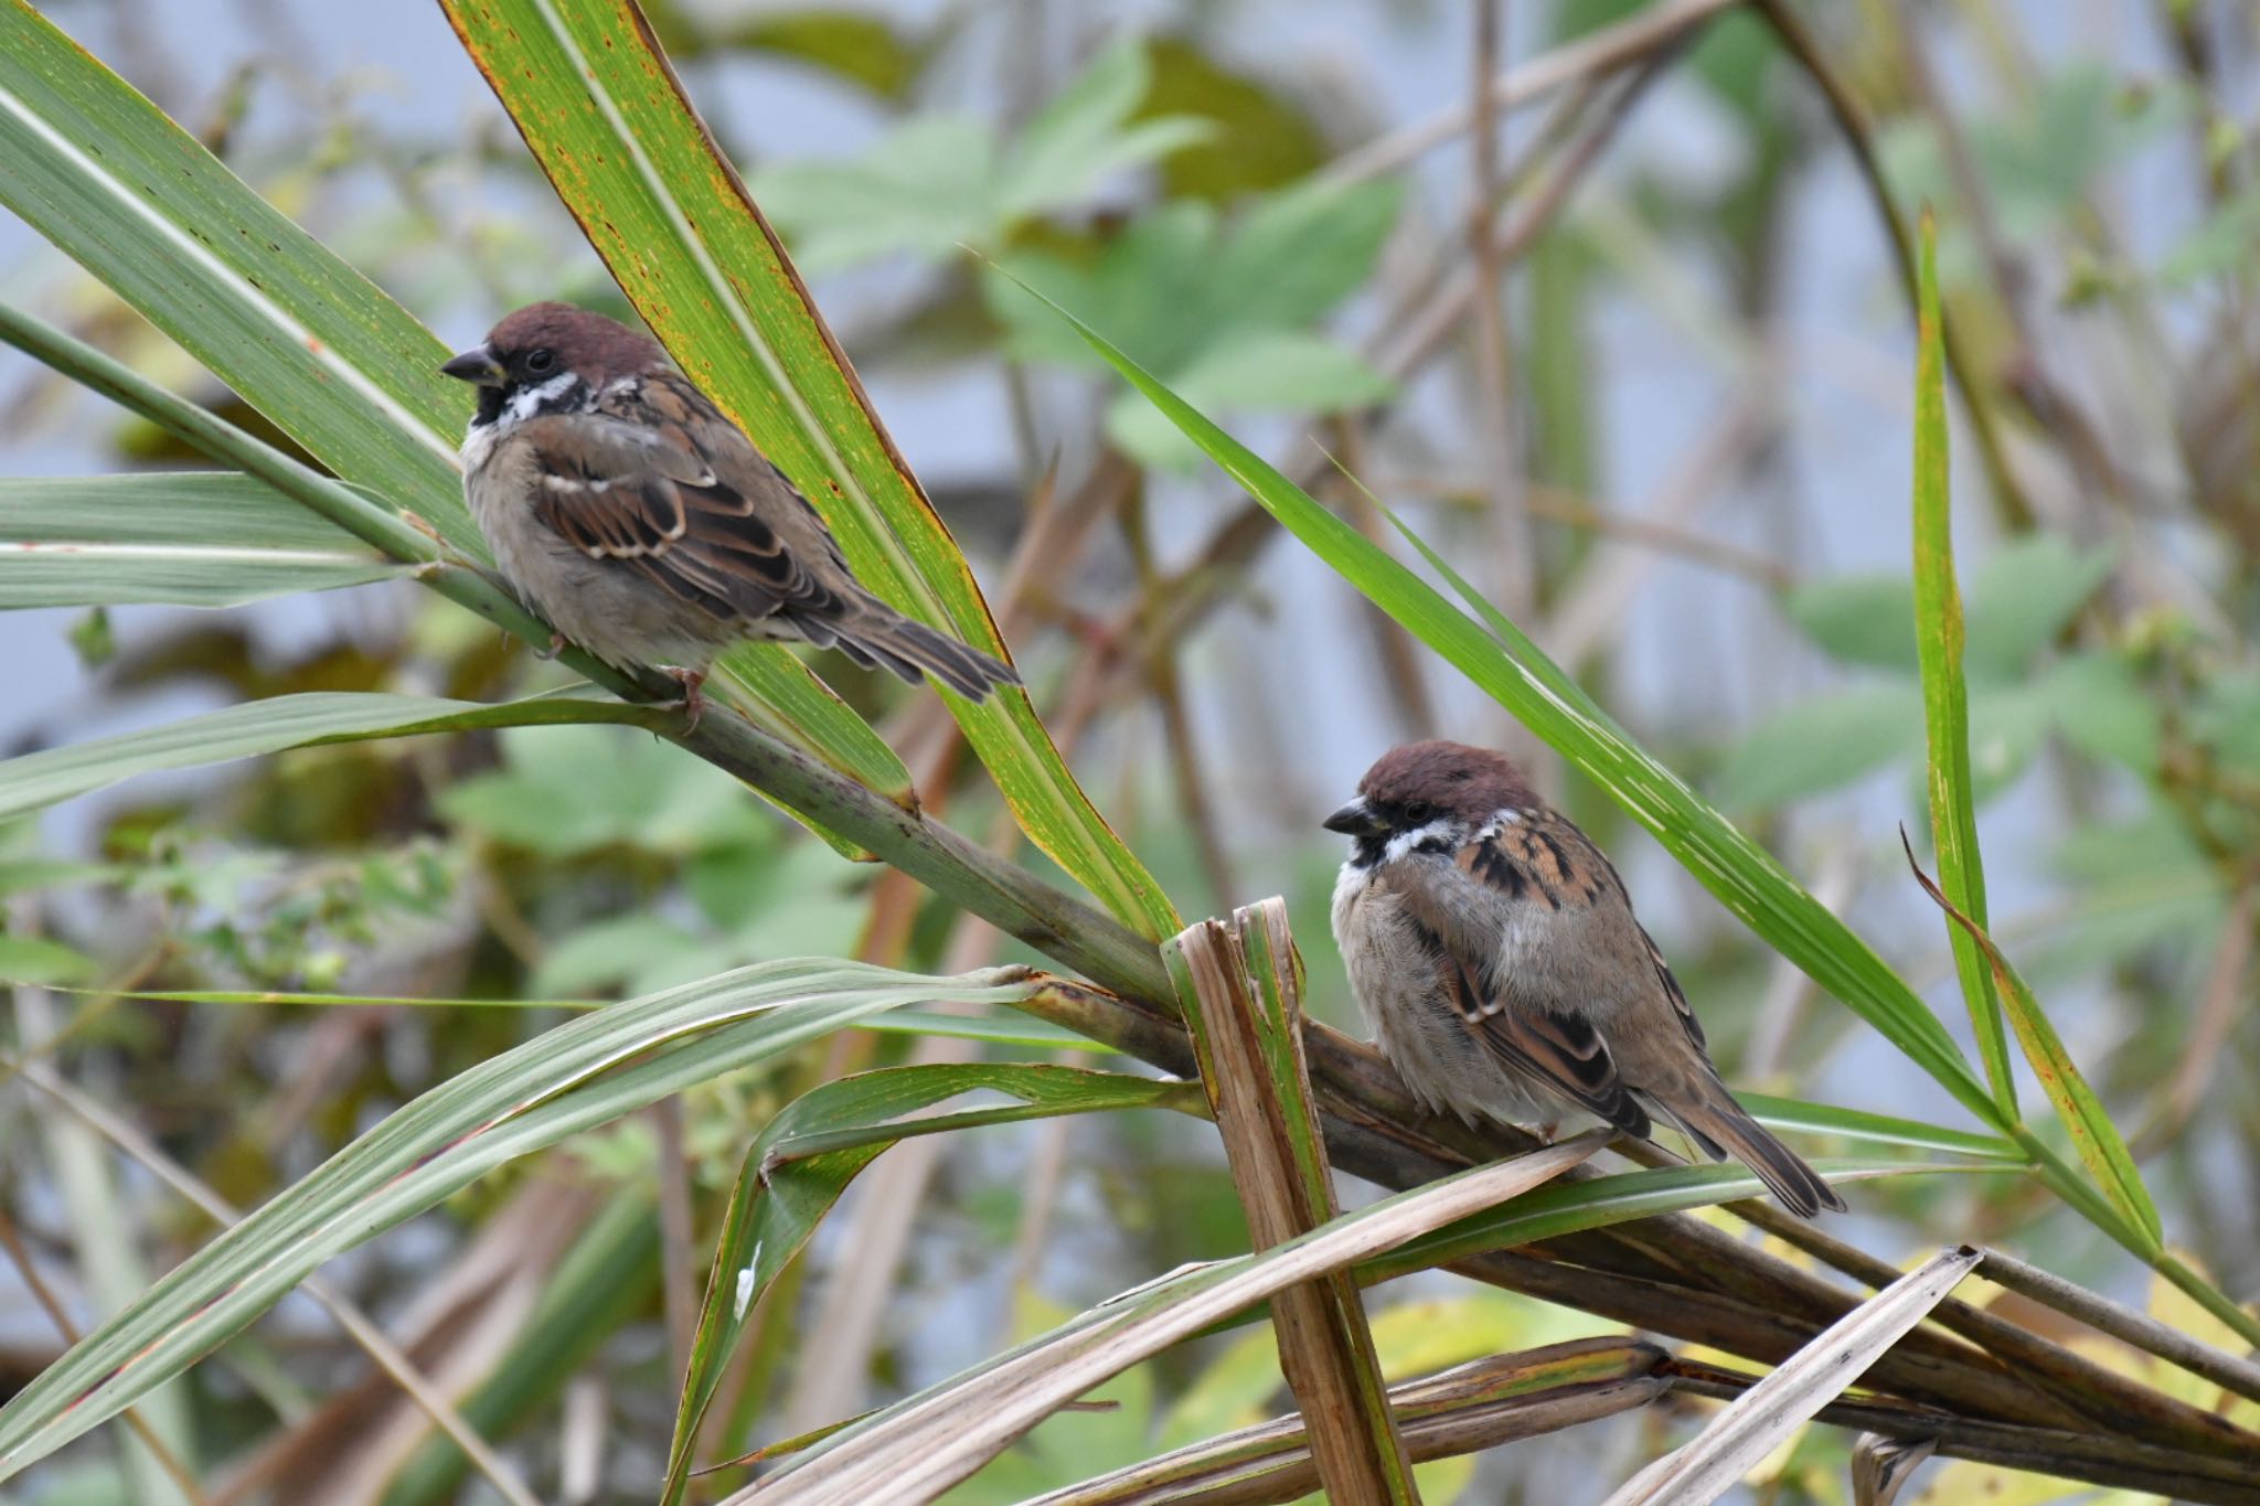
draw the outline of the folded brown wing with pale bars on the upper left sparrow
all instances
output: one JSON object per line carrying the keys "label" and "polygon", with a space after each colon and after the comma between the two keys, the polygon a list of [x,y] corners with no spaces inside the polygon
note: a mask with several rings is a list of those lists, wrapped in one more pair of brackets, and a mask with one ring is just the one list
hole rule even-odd
{"label": "folded brown wing with pale bars on the upper left sparrow", "polygon": [[791,481],[680,379],[522,424],[533,515],[716,619],[829,619],[861,598]]}

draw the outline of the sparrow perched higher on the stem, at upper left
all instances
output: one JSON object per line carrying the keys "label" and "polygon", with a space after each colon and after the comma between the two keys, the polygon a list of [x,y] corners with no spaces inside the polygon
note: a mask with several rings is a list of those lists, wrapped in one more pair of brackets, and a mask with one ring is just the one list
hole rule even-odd
{"label": "sparrow perched higher on the stem, at upper left", "polygon": [[714,655],[802,639],[981,700],[1006,664],[847,571],[816,508],[646,334],[565,303],[518,309],[443,373],[479,388],[463,494],[504,578],[610,664],[658,664],[696,720]]}

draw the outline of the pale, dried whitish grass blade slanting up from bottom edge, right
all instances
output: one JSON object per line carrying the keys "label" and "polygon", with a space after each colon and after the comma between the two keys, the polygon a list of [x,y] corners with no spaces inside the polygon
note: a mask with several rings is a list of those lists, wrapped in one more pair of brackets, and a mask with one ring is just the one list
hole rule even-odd
{"label": "pale, dried whitish grass blade slanting up from bottom edge, right", "polygon": [[1831,1323],[1772,1375],[1736,1398],[1693,1443],[1648,1465],[1607,1506],[1706,1506],[1783,1438],[1844,1393],[1883,1350],[1946,1301],[1977,1251],[1941,1251]]}

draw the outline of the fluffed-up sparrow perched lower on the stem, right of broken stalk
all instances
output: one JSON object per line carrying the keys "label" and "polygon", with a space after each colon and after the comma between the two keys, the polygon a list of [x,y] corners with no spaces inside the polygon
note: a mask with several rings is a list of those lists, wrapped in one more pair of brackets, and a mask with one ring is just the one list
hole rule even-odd
{"label": "fluffed-up sparrow perched lower on the stem, right of broken stalk", "polygon": [[1354,842],[1333,885],[1333,942],[1381,1050],[1424,1104],[1469,1124],[1553,1122],[1568,1106],[1634,1136],[1661,1113],[1792,1212],[1842,1212],[1718,1079],[1616,869],[1503,756],[1390,750],[1327,829]]}

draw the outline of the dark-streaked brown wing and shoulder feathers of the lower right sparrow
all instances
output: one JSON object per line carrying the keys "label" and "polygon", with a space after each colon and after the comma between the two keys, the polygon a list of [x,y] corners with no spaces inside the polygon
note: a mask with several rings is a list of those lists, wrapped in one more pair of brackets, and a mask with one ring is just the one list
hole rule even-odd
{"label": "dark-streaked brown wing and shoulder feathers of the lower right sparrow", "polygon": [[[1625,1133],[1645,1136],[1648,1109],[1618,1075],[1616,1057],[1593,1016],[1557,1005],[1544,989],[1516,987],[1498,964],[1498,937],[1505,935],[1498,921],[1510,905],[1548,905],[1548,892],[1559,903],[1593,901],[1571,892],[1559,865],[1548,867],[1544,858],[1532,858],[1516,840],[1469,842],[1453,856],[1453,865],[1480,885],[1485,899],[1476,905],[1444,885],[1424,883],[1417,874],[1392,887],[1406,914],[1435,939],[1440,989],[1469,1034],[1516,1075]],[[1548,872],[1550,883],[1544,876]],[[1609,874],[1609,883],[1614,881]],[[1564,894],[1568,899],[1562,899]],[[1550,912],[1557,912],[1559,903]]]}

